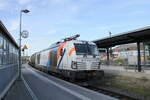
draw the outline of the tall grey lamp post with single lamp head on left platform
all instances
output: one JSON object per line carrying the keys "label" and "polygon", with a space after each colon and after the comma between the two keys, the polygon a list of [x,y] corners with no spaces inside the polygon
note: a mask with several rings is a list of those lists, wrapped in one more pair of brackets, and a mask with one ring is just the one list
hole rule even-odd
{"label": "tall grey lamp post with single lamp head on left platform", "polygon": [[21,25],[22,25],[22,13],[29,13],[30,11],[27,9],[21,10],[20,11],[20,32],[19,32],[19,79],[21,79],[21,35],[22,35],[22,30],[21,30]]}

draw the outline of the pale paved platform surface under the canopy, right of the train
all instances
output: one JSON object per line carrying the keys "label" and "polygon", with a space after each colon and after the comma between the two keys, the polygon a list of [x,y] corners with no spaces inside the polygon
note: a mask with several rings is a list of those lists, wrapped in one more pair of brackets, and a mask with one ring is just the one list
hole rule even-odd
{"label": "pale paved platform surface under the canopy, right of the train", "polygon": [[135,69],[125,69],[125,66],[113,66],[113,65],[101,65],[101,69],[105,71],[105,73],[110,73],[114,75],[123,75],[135,78],[147,78],[150,79],[150,70],[144,70],[142,72],[138,72]]}

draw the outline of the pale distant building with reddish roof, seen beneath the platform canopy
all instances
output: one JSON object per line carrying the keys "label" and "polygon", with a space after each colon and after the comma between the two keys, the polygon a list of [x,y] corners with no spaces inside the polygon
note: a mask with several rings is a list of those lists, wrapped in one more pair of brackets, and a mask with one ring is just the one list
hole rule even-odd
{"label": "pale distant building with reddish roof, seen beneath the platform canopy", "polygon": [[[140,44],[141,46],[141,62],[144,64],[144,47],[143,44]],[[132,44],[125,44],[116,46],[112,49],[112,57],[113,58],[119,58],[124,59],[127,61],[128,65],[137,65],[137,45],[136,43]]]}

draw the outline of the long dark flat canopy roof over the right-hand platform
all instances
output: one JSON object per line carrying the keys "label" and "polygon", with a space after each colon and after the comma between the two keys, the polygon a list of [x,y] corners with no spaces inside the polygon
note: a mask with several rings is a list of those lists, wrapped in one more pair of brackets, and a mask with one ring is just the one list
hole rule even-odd
{"label": "long dark flat canopy roof over the right-hand platform", "polygon": [[98,48],[109,48],[116,45],[143,42],[150,40],[150,26],[124,32],[112,37],[94,40]]}

